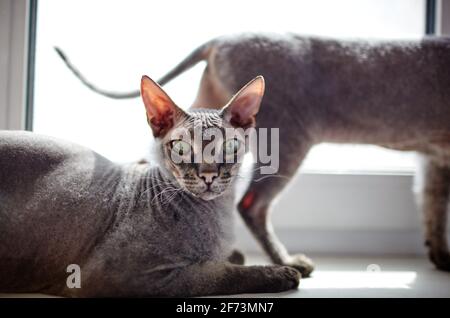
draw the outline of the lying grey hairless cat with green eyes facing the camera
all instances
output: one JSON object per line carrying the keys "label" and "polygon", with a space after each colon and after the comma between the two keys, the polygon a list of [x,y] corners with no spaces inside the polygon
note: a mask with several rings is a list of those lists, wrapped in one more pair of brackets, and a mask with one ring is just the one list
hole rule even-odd
{"label": "lying grey hairless cat with green eyes facing the camera", "polygon": [[[262,77],[222,110],[184,112],[148,77],[141,91],[159,167],[124,167],[54,138],[0,132],[0,292],[197,296],[296,288],[300,273],[291,267],[227,262],[239,162],[174,160],[211,142],[225,157],[242,152],[239,135],[199,144],[173,132],[207,135],[253,123]],[[81,267],[79,289],[66,285],[70,264]]]}

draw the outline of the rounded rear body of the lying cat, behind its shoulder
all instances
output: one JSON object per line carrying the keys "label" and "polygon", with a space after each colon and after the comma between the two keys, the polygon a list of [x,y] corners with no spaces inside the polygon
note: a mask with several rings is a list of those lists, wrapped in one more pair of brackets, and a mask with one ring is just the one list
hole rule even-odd
{"label": "rounded rear body of the lying cat, behind its shoulder", "polygon": [[0,131],[0,291],[42,290],[83,262],[114,217],[115,167],[70,142]]}

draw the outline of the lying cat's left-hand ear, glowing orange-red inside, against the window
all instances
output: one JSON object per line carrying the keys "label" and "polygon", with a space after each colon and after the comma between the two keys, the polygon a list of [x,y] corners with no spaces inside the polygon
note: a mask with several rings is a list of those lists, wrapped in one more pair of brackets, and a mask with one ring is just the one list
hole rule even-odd
{"label": "lying cat's left-hand ear, glowing orange-red inside, against the window", "polygon": [[141,80],[141,96],[147,111],[147,121],[153,136],[162,137],[185,113],[170,99],[169,95],[150,77]]}

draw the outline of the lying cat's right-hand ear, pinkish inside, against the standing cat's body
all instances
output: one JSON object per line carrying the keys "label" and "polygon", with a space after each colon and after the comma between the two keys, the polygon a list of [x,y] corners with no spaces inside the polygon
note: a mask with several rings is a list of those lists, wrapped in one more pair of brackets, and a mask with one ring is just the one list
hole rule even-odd
{"label": "lying cat's right-hand ear, pinkish inside, against the standing cat's body", "polygon": [[263,95],[264,77],[260,75],[248,82],[231,98],[222,109],[223,118],[235,127],[254,127]]}

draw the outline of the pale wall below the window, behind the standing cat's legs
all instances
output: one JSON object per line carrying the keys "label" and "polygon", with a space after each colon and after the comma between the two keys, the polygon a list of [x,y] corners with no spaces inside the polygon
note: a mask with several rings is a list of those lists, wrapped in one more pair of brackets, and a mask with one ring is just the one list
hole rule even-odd
{"label": "pale wall below the window, behind the standing cat's legs", "polygon": [[[422,215],[410,175],[300,174],[273,207],[289,250],[422,254]],[[238,222],[238,245],[259,247]]]}

